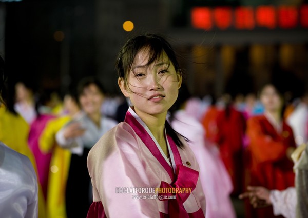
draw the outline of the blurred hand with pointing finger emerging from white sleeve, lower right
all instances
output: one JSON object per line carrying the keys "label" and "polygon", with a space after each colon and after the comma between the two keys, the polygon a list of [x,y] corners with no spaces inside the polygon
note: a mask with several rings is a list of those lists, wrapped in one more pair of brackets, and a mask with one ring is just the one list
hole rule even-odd
{"label": "blurred hand with pointing finger emerging from white sleeve, lower right", "polygon": [[271,205],[269,200],[269,190],[261,186],[248,186],[247,192],[239,195],[240,199],[249,197],[249,201],[254,208],[267,207]]}

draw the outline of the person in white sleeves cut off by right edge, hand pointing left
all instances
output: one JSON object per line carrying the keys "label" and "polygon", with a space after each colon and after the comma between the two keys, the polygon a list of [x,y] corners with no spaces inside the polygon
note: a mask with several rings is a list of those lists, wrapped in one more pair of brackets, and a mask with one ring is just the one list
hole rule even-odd
{"label": "person in white sleeves cut off by right edge, hand pointing left", "polygon": [[268,190],[262,186],[248,186],[239,197],[249,197],[255,208],[273,206],[274,215],[285,218],[308,217],[308,146],[301,144],[291,155],[296,173],[295,187]]}

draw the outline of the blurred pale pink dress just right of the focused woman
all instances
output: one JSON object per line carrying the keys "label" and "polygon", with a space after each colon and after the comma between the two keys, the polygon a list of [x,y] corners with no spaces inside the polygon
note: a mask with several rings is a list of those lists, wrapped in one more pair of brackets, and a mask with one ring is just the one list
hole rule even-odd
{"label": "blurred pale pink dress just right of the focused woman", "polygon": [[200,167],[200,180],[206,198],[206,218],[234,218],[235,212],[229,194],[232,182],[220,160],[215,145],[204,141],[204,129],[185,111],[175,113],[172,128],[188,138],[188,145],[196,155]]}

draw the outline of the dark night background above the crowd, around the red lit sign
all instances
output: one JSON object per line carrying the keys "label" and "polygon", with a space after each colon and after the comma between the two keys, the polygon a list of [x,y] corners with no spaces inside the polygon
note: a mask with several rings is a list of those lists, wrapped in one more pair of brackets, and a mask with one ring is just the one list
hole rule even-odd
{"label": "dark night background above the crowd, around the red lit sign", "polygon": [[[264,81],[278,83],[282,91],[301,93],[308,84],[308,67],[304,64],[308,63],[307,29],[204,31],[190,25],[190,9],[195,6],[236,7],[283,2],[297,6],[305,4],[305,1],[265,0],[24,0],[0,3],[5,12],[5,51],[2,55],[10,84],[25,81],[35,90],[57,89],[65,93],[82,77],[97,75],[110,93],[118,93],[114,61],[120,46],[130,35],[159,32],[170,37],[171,44],[182,52],[184,58],[180,62],[187,69],[188,87],[195,95],[256,92]],[[123,30],[126,20],[133,21],[132,32]],[[63,41],[55,40],[56,31],[64,33]],[[254,44],[269,45],[274,51],[271,63],[264,65],[270,71],[267,74],[253,73],[249,52]],[[293,46],[294,51],[300,47],[300,56],[304,56],[301,61],[295,58],[288,68],[282,67],[278,58],[284,44]],[[194,56],[200,45],[208,56],[201,61],[198,54]],[[230,55],[234,60],[227,70],[220,53],[226,45],[233,46]],[[196,60],[205,64],[194,66]]]}

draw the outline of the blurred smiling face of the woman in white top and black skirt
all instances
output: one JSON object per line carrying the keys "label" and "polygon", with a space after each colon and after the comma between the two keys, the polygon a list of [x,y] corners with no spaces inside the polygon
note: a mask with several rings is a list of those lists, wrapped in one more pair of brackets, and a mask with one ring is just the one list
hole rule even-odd
{"label": "blurred smiling face of the woman in white top and black skirt", "polygon": [[104,101],[104,95],[95,84],[85,87],[79,97],[83,111],[87,114],[100,113]]}

